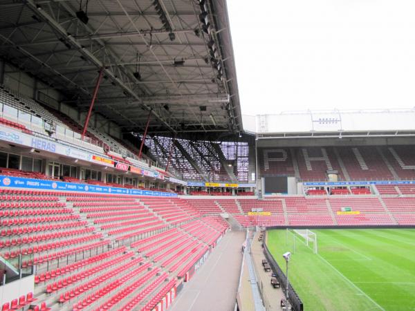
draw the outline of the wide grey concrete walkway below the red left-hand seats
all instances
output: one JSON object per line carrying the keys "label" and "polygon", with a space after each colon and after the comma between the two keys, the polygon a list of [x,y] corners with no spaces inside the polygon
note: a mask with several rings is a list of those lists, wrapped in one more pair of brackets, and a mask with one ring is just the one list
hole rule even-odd
{"label": "wide grey concrete walkway below the red left-hand seats", "polygon": [[245,232],[225,234],[222,241],[172,303],[169,311],[233,311],[242,263]]}

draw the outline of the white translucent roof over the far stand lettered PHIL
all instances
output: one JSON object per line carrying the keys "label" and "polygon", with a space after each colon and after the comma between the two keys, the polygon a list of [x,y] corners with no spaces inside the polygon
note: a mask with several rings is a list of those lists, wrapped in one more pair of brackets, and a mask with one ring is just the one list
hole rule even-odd
{"label": "white translucent roof over the far stand lettered PHIL", "polygon": [[412,137],[415,109],[288,111],[243,115],[245,131],[259,139]]}

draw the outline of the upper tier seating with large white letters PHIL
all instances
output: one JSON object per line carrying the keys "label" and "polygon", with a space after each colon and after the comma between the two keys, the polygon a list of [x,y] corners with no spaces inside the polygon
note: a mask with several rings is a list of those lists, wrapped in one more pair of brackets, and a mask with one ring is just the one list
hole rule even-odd
{"label": "upper tier seating with large white letters PHIL", "polygon": [[[415,147],[404,146],[357,146],[357,147],[307,147],[293,148],[303,181],[327,180],[326,171],[338,171],[339,180],[345,180],[338,163],[344,164],[350,180],[396,180],[382,154],[403,180],[415,179]],[[294,176],[291,150],[288,148],[259,148],[258,163],[261,176]]]}

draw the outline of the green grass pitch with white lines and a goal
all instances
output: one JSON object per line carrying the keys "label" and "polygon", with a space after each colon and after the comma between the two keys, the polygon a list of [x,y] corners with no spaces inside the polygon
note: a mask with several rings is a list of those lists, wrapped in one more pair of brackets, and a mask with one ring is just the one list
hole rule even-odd
{"label": "green grass pitch with white lines and a goal", "polygon": [[292,252],[288,279],[304,310],[415,310],[415,229],[312,231],[318,254],[286,230],[268,232],[284,272]]}

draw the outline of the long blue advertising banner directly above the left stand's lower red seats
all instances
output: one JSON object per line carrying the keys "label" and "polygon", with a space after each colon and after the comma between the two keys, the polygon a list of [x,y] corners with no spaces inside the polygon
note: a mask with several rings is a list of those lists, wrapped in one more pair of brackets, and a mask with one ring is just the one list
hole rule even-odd
{"label": "long blue advertising banner directly above the left stand's lower red seats", "polygon": [[140,189],[126,189],[99,185],[77,184],[74,182],[60,182],[55,180],[43,180],[35,178],[22,178],[14,176],[0,176],[0,187],[22,188],[47,191],[77,191],[93,194],[128,194],[136,196],[168,196],[176,197],[177,194],[161,191]]}

